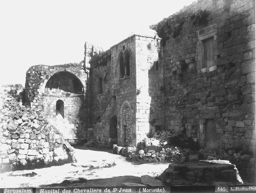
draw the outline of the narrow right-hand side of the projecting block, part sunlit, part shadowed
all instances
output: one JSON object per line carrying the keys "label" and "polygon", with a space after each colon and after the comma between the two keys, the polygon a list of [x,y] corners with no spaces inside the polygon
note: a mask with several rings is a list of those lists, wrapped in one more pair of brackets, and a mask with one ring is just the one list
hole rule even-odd
{"label": "narrow right-hand side of the projecting block, part sunlit, part shadowed", "polygon": [[[137,144],[157,129],[164,129],[164,93],[160,39],[136,36]],[[155,126],[157,128],[155,128]]]}

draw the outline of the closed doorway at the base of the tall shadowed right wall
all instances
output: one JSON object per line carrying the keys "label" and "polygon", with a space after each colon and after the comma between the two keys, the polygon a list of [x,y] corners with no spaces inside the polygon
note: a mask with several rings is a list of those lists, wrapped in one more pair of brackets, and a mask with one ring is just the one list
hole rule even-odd
{"label": "closed doorway at the base of the tall shadowed right wall", "polygon": [[213,119],[206,121],[206,147],[212,149],[217,148],[217,132]]}

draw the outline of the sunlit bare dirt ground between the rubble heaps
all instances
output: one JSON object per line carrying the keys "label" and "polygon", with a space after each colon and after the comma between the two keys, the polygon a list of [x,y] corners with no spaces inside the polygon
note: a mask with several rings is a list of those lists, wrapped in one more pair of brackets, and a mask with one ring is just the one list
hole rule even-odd
{"label": "sunlit bare dirt ground between the rubble heaps", "polygon": [[[123,156],[112,154],[112,149],[82,146],[75,148],[76,163],[1,173],[1,188],[122,186],[124,182],[141,183],[142,175],[156,177],[170,164],[158,162],[135,165],[126,161]],[[116,165],[109,167],[113,163]],[[32,172],[36,175],[24,176]],[[78,183],[80,178],[86,181]],[[62,183],[65,180],[68,183]]]}

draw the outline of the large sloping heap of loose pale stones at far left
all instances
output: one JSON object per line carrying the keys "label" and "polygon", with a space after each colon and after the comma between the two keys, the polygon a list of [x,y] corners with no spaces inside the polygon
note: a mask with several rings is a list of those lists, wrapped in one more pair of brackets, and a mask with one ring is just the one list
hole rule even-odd
{"label": "large sloping heap of loose pale stones at far left", "polygon": [[0,95],[0,162],[75,160],[74,148],[43,114],[25,108],[6,93]]}

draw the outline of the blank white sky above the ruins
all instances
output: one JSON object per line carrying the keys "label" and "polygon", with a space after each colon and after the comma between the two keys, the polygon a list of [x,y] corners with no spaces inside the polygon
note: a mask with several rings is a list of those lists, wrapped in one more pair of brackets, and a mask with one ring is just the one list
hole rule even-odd
{"label": "blank white sky above the ruins", "polygon": [[0,86],[32,65],[79,63],[84,42],[109,49],[195,0],[0,0]]}

